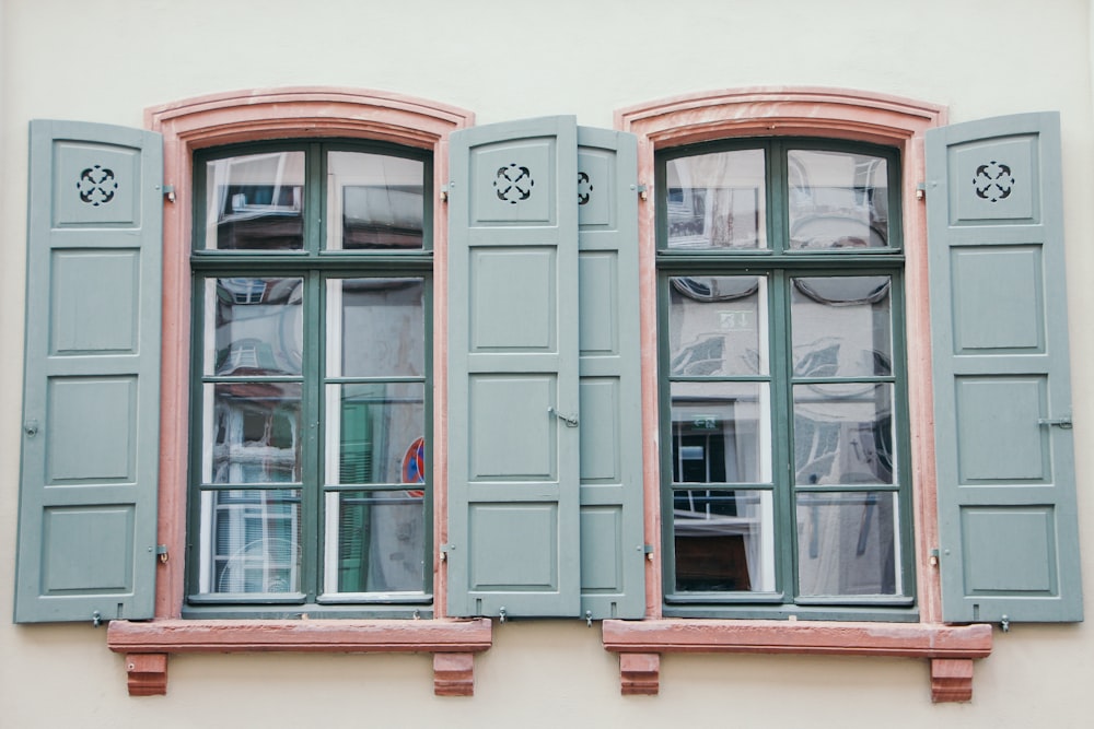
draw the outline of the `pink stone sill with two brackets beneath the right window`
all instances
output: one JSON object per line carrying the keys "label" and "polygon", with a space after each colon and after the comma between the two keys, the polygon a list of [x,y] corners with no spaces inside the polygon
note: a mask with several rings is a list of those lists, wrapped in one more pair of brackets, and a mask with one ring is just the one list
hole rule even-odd
{"label": "pink stone sill with two brackets beneath the right window", "polygon": [[620,692],[656,695],[661,654],[732,652],[898,656],[931,661],[931,698],[973,698],[973,660],[991,654],[990,625],[787,621],[604,621],[604,648],[619,654]]}

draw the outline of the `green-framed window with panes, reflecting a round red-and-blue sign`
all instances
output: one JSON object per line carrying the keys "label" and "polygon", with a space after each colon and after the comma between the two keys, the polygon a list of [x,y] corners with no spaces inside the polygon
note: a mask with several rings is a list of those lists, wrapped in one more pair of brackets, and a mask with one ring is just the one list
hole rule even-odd
{"label": "green-framed window with panes, reflecting a round red-and-blue sign", "polygon": [[184,615],[429,616],[432,155],[195,155]]}

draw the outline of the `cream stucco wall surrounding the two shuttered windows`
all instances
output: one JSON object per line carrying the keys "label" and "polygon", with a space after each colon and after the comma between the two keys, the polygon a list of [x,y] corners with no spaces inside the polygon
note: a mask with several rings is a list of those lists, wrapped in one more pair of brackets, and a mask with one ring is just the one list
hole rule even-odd
{"label": "cream stucco wall surrounding the two shuttered windows", "polygon": [[[18,507],[26,125],[141,126],[146,107],[254,87],[381,89],[479,124],[690,92],[822,85],[950,107],[951,121],[1058,109],[1084,578],[1094,586],[1094,24],[1087,0],[2,0],[0,3],[0,726],[1082,727],[1094,626],[997,631],[975,697],[932,705],[926,661],[663,658],[661,695],[621,697],[579,621],[509,623],[473,698],[432,693],[429,656],[179,656],[168,695],[130,698],[89,625],[10,623]],[[1089,591],[1089,589],[1087,589]],[[1087,611],[1094,608],[1087,608]]]}

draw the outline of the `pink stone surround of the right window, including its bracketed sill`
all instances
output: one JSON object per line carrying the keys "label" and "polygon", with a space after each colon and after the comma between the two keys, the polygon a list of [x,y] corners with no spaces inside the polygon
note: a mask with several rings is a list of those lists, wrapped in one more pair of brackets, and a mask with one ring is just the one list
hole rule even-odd
{"label": "pink stone surround of the right window, including its bracketed sill", "polygon": [[[781,652],[887,655],[931,660],[935,701],[967,701],[973,659],[991,651],[987,625],[941,624],[941,589],[930,551],[938,540],[934,418],[931,389],[927,212],[923,138],[946,124],[943,106],[897,96],[823,87],[759,87],[677,96],[620,109],[616,129],[638,137],[639,180],[648,202],[639,209],[642,330],[642,435],[657,443],[656,267],[654,153],[684,144],[745,137],[817,137],[884,144],[899,150],[904,200],[908,392],[911,431],[912,520],[917,604],[913,624],[703,621],[664,619],[662,565],[647,564],[647,619],[605,621],[604,646],[620,655],[625,694],[657,692],[662,652]],[[661,554],[661,483],[656,448],[643,454],[645,539]]]}

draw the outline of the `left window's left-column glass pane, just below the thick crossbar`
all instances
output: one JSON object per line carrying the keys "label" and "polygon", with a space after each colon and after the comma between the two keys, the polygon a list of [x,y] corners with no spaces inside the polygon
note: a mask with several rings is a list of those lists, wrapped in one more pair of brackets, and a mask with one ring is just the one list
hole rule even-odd
{"label": "left window's left-column glass pane, just below the thick crossbar", "polygon": [[205,374],[299,375],[303,303],[301,279],[207,280]]}

